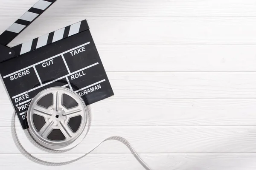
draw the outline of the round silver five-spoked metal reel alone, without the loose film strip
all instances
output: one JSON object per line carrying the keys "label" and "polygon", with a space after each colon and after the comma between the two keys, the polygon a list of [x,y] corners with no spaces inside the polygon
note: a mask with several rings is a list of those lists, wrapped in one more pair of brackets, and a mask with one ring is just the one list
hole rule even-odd
{"label": "round silver five-spoked metal reel alone, without the loose film strip", "polygon": [[87,107],[74,91],[48,88],[37,94],[29,105],[27,120],[33,138],[50,149],[72,144],[87,123]]}

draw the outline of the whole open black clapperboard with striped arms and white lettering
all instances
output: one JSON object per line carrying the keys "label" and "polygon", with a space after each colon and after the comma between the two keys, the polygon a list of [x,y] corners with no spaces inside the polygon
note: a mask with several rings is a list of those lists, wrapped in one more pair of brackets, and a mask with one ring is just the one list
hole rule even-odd
{"label": "whole open black clapperboard with striped arms and white lettering", "polygon": [[55,1],[39,0],[0,35],[0,74],[23,129],[30,101],[44,89],[70,88],[87,105],[113,96],[86,20],[7,47]]}

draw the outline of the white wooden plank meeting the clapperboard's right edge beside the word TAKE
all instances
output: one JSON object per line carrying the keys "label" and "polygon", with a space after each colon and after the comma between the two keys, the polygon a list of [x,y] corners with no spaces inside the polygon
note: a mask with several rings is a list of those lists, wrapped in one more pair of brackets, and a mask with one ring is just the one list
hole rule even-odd
{"label": "white wooden plank meeting the clapperboard's right edge beside the word TAKE", "polygon": [[106,71],[256,71],[256,45],[98,45]]}

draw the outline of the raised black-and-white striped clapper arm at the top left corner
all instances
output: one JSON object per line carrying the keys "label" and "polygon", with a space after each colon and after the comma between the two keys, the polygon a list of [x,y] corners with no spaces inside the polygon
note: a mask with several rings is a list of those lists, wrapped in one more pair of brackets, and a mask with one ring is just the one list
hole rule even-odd
{"label": "raised black-and-white striped clapper arm at the top left corner", "polygon": [[56,0],[39,0],[32,8],[23,14],[15,23],[12,24],[3,34],[0,35],[0,44],[7,45],[20,32],[29,26],[36,18],[47,10]]}

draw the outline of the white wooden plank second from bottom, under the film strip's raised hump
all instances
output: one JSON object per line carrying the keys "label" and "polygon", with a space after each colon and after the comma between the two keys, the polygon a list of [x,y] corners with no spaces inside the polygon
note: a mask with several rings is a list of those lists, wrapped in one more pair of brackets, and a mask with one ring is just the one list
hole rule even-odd
{"label": "white wooden plank second from bottom, under the film strip's raised hump", "polygon": [[[21,127],[17,134],[29,153],[45,153],[29,142]],[[86,138],[68,153],[87,153],[110,136],[127,139],[138,153],[256,153],[255,126],[91,127]],[[10,127],[0,127],[0,153],[20,153]],[[130,153],[124,144],[107,141],[93,153]]]}

